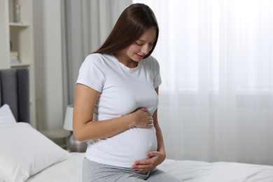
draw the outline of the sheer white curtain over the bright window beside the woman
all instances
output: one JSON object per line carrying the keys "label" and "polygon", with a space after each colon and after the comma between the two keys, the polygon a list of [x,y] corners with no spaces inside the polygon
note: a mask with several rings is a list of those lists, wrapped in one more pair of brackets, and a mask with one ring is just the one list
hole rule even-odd
{"label": "sheer white curtain over the bright window beside the woman", "polygon": [[158,0],[167,157],[273,165],[273,1]]}

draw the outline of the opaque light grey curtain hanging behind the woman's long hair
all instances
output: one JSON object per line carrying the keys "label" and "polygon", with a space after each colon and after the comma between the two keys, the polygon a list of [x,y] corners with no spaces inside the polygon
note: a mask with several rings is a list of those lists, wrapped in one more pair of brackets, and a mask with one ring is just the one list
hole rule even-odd
{"label": "opaque light grey curtain hanging behind the woman's long hair", "polygon": [[83,59],[105,41],[128,0],[63,0],[64,109],[73,104],[78,69]]}

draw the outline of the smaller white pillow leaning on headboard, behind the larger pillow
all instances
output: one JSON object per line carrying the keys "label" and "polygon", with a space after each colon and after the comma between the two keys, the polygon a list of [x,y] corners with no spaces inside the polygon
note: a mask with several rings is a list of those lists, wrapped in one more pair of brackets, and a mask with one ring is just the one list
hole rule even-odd
{"label": "smaller white pillow leaning on headboard, behind the larger pillow", "polygon": [[3,104],[0,108],[0,127],[16,123],[13,113],[8,104]]}

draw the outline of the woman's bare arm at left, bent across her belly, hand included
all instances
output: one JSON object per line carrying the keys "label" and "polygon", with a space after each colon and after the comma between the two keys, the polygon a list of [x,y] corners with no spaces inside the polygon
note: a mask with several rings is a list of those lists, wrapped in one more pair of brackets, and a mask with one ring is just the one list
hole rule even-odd
{"label": "woman's bare arm at left, bent across her belly, hand included", "polygon": [[83,84],[76,85],[73,108],[73,134],[78,141],[104,139],[123,132],[130,127],[152,127],[147,109],[111,120],[92,121],[99,92]]}

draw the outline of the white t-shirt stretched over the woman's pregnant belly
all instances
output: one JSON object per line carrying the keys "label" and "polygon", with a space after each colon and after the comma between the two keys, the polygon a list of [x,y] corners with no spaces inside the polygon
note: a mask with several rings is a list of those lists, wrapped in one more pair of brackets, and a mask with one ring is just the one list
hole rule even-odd
{"label": "white t-shirt stretched over the woman's pregnant belly", "polygon": [[[158,108],[155,88],[161,84],[160,66],[152,56],[130,69],[113,55],[88,55],[80,66],[77,83],[100,92],[93,120],[118,118],[141,107],[153,114]],[[134,161],[147,159],[146,153],[157,151],[157,147],[154,127],[132,127],[113,137],[89,141],[85,157],[106,165],[132,167]]]}

